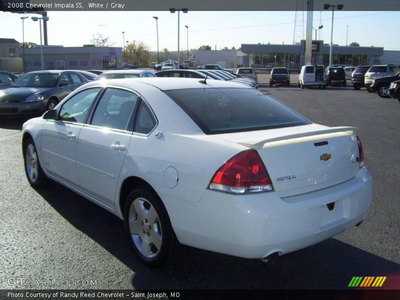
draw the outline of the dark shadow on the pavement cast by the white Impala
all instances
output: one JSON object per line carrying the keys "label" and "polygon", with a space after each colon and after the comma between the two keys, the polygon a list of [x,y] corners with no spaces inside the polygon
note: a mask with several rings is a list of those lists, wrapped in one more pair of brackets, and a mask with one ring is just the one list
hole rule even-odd
{"label": "dark shadow on the pavement cast by the white Impala", "polygon": [[128,266],[130,284],[137,290],[343,289],[352,276],[387,276],[385,288],[400,286],[400,264],[335,238],[267,264],[184,246],[178,261],[150,268],[135,257],[118,217],[55,182],[37,192],[70,224]]}

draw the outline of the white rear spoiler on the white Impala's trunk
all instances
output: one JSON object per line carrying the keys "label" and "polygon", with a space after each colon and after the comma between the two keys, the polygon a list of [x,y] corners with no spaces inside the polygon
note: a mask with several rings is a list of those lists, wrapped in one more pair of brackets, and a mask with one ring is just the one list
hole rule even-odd
{"label": "white rear spoiler on the white Impala's trunk", "polygon": [[298,137],[306,137],[306,136],[326,134],[326,133],[335,133],[335,132],[348,132],[348,133],[352,134],[356,131],[358,131],[357,127],[346,127],[346,126],[327,127],[326,129],[322,128],[322,129],[298,132],[298,133],[288,134],[288,135],[271,136],[271,137],[261,139],[261,140],[259,138],[243,139],[243,140],[237,141],[237,143],[247,146],[247,147],[250,147],[250,148],[253,148],[253,149],[260,149],[260,148],[262,148],[262,146],[265,143],[272,142],[272,141],[279,141],[279,140],[286,140],[286,139],[292,139],[292,138],[298,138]]}

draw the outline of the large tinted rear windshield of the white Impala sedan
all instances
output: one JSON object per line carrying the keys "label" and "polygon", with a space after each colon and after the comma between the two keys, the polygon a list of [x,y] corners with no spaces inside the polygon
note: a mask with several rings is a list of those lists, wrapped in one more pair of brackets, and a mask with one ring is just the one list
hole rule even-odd
{"label": "large tinted rear windshield of the white Impala sedan", "polygon": [[283,128],[308,120],[251,88],[191,88],[164,91],[205,134]]}

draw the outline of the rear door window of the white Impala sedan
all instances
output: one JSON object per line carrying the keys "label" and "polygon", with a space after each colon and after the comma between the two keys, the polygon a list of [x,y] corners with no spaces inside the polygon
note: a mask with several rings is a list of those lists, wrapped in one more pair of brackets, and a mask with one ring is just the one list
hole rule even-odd
{"label": "rear door window of the white Impala sedan", "polygon": [[137,97],[127,90],[107,88],[94,110],[91,124],[126,130]]}

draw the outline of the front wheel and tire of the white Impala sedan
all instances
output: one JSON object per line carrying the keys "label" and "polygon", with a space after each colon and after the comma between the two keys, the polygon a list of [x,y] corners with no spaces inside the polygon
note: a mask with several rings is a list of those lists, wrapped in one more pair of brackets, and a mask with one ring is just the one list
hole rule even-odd
{"label": "front wheel and tire of the white Impala sedan", "polygon": [[36,146],[30,137],[23,144],[23,164],[26,178],[32,187],[38,188],[47,184],[48,177],[40,166]]}

